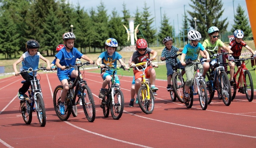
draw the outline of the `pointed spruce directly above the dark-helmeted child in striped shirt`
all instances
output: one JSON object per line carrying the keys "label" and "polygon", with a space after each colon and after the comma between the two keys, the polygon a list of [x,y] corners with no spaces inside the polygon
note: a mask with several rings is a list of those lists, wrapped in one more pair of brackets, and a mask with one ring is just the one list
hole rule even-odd
{"label": "pointed spruce directly above the dark-helmeted child in striped shirt", "polygon": [[163,41],[163,38],[166,36],[172,37],[172,26],[169,25],[169,18],[167,17],[166,13],[164,13],[163,21],[162,21],[161,27],[160,27],[160,32],[158,33],[159,41]]}

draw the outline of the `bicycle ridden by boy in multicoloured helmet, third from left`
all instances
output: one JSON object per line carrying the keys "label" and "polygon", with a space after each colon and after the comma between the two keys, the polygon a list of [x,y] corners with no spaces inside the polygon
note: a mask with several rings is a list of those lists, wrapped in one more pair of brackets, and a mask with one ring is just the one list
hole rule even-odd
{"label": "bicycle ridden by boy in multicoloured helmet, third from left", "polygon": [[[98,68],[100,68],[100,66],[98,66]],[[102,108],[103,115],[105,118],[108,117],[110,110],[111,116],[114,120],[118,120],[121,118],[124,108],[123,92],[121,91],[120,86],[116,85],[117,71],[119,69],[126,70],[125,67],[123,67],[122,65],[120,66],[120,68],[112,68],[105,65],[105,67],[102,69],[102,71],[113,70],[113,72],[111,84],[110,82],[108,83],[108,91],[106,92],[105,98],[101,98],[102,100],[104,100],[102,101],[100,107]]]}

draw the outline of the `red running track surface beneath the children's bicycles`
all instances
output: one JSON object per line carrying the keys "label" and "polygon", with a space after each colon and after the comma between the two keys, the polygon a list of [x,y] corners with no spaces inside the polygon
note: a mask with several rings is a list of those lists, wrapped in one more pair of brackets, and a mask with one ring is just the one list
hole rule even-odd
{"label": "red running track surface beneath the children's bicycles", "polygon": [[[230,106],[215,96],[207,110],[202,110],[195,96],[191,109],[172,102],[166,81],[157,80],[158,96],[152,114],[144,114],[139,105],[129,107],[132,77],[123,77],[121,90],[125,108],[119,120],[103,117],[98,93],[100,74],[86,72],[88,86],[96,104],[93,123],[78,106],[78,116],[61,121],[53,109],[53,91],[60,84],[56,73],[40,74],[47,122],[39,125],[36,113],[26,125],[19,112],[17,91],[23,78],[0,79],[0,147],[255,147],[256,101],[248,102],[237,93]],[[215,93],[216,94],[216,93]],[[254,92],[254,96],[256,93]]]}

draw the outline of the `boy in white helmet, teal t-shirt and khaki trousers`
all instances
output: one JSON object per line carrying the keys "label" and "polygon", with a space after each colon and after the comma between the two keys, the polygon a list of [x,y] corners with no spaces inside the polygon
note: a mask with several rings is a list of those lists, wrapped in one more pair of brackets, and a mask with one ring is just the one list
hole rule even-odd
{"label": "boy in white helmet, teal t-shirt and khaki trousers", "polygon": [[[196,65],[189,64],[186,65],[184,62],[184,59],[187,61],[188,59],[192,61],[197,61],[198,55],[200,51],[203,51],[203,53],[206,55],[206,59],[209,59],[209,53],[205,50],[203,45],[199,43],[201,40],[201,34],[196,30],[190,30],[187,33],[187,38],[191,41],[185,47],[183,48],[182,54],[181,54],[181,64],[184,65],[185,73],[186,73],[186,84],[185,84],[185,93],[184,93],[184,103],[189,103],[189,87],[192,86],[193,78],[194,78],[194,71],[196,69]],[[209,61],[207,61],[209,62]],[[200,73],[203,73],[203,66],[201,64],[198,65],[200,69]]]}

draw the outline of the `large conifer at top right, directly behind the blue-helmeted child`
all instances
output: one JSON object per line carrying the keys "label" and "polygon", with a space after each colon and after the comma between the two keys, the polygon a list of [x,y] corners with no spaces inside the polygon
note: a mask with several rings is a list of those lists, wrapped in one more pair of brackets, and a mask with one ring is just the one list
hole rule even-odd
{"label": "large conifer at top right, directly behind the blue-helmeted child", "polygon": [[[194,4],[194,5],[192,5]],[[221,0],[191,0],[189,4],[194,11],[187,11],[190,14],[189,22],[192,28],[195,27],[194,17],[197,18],[197,31],[202,35],[202,39],[208,37],[207,30],[211,26],[216,26],[221,32],[227,30],[227,18],[219,20],[224,12]]]}

